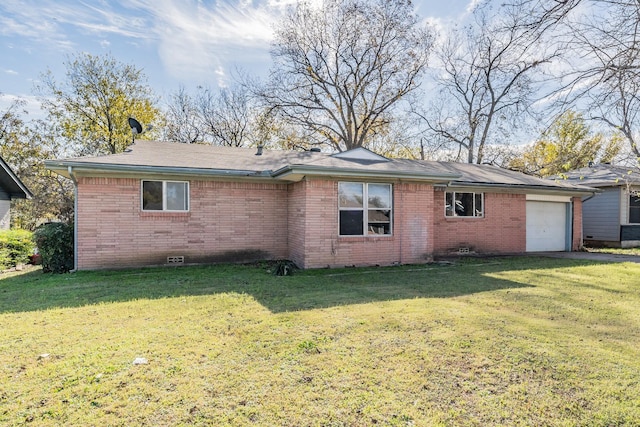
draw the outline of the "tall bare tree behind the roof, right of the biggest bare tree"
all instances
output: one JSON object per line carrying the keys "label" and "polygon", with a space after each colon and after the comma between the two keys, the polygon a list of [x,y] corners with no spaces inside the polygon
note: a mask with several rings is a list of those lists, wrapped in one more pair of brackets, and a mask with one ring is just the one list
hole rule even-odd
{"label": "tall bare tree behind the roof, right of the biggest bare tree", "polygon": [[543,66],[560,54],[543,39],[549,27],[529,25],[524,10],[476,9],[469,26],[454,28],[436,48],[437,94],[418,114],[432,143],[454,160],[482,163],[490,144],[516,134],[540,90]]}

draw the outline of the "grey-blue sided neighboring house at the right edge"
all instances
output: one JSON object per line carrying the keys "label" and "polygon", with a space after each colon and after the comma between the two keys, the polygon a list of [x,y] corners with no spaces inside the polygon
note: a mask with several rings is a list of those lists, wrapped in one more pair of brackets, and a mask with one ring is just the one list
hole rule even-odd
{"label": "grey-blue sided neighboring house at the right edge", "polygon": [[583,198],[583,233],[594,246],[640,246],[640,169],[595,164],[558,177],[600,190]]}

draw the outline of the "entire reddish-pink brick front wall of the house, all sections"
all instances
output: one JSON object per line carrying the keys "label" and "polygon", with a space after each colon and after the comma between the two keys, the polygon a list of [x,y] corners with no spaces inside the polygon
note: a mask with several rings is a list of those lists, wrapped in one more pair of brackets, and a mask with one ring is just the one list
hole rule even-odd
{"label": "entire reddish-pink brick front wall of the house, all sections", "polygon": [[[142,212],[140,179],[79,178],[78,267],[288,258],[303,268],[410,264],[468,247],[526,249],[526,196],[485,193],[484,218],[446,218],[444,191],[393,185],[393,235],[338,236],[337,180],[190,182],[186,213]],[[582,242],[574,199],[574,250]]]}

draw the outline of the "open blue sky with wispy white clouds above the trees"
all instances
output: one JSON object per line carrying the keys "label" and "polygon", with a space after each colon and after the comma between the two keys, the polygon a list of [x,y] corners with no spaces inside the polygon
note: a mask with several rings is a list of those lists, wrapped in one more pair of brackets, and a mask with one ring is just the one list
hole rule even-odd
{"label": "open blue sky with wispy white clouds above the trees", "polygon": [[[319,1],[319,0],[316,0]],[[51,70],[64,80],[72,55],[111,54],[141,69],[161,99],[181,86],[224,87],[238,70],[266,77],[273,27],[295,0],[2,0],[0,111],[19,97],[41,116],[34,85]],[[445,27],[478,0],[414,0]]]}

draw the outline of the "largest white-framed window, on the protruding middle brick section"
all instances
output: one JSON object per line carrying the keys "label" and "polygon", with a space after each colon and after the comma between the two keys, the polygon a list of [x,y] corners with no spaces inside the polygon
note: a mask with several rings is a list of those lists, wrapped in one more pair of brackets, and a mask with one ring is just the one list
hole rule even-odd
{"label": "largest white-framed window, on the protruding middle brick section", "polygon": [[391,184],[338,183],[341,236],[391,234]]}

